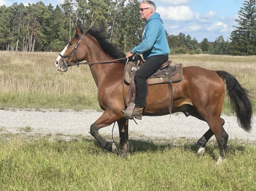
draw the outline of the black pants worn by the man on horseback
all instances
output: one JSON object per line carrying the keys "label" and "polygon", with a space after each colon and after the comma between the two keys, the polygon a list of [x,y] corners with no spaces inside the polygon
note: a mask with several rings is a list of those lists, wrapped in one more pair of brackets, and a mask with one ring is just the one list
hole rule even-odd
{"label": "black pants worn by the man on horseback", "polygon": [[135,107],[145,107],[147,97],[147,79],[167,60],[168,55],[151,56],[142,66],[140,66],[139,70],[136,71],[134,77],[136,85]]}

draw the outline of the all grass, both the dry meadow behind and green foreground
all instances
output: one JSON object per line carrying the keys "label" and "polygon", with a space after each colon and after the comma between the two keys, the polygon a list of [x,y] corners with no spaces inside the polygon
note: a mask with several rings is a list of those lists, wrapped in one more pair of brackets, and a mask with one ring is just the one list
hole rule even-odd
{"label": "all grass, both the dry meadow behind and green foreground", "polygon": [[[88,66],[57,72],[57,55],[0,52],[0,108],[100,110]],[[225,70],[252,96],[256,92],[256,56],[175,55],[170,60]],[[255,113],[255,97],[252,103]],[[227,100],[223,112],[231,112]],[[219,146],[215,140],[207,144],[201,157],[196,154],[197,140],[130,140],[128,156],[123,159],[103,150],[91,137],[75,136],[68,142],[38,137],[0,135],[1,190],[256,190],[253,143],[230,140],[227,159],[217,165]]]}

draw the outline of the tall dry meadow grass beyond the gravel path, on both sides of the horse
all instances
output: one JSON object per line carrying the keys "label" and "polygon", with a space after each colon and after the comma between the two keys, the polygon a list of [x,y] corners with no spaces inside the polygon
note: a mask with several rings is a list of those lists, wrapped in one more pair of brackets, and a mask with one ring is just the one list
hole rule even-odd
{"label": "tall dry meadow grass beyond the gravel path, on both sides of the horse", "polygon": [[[0,52],[0,106],[100,110],[89,67],[57,72],[54,65],[57,56],[58,53],[50,52]],[[183,66],[227,71],[252,96],[256,92],[256,56],[170,55],[169,59]],[[254,98],[252,102],[255,106]]]}

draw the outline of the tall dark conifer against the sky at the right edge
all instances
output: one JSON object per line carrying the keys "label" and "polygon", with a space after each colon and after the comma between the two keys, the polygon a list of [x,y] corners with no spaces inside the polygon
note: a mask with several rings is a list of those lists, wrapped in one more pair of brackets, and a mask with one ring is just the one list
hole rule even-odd
{"label": "tall dark conifer against the sky at the right edge", "polygon": [[238,12],[236,30],[231,32],[230,54],[255,55],[256,54],[256,0],[243,3],[244,7]]}

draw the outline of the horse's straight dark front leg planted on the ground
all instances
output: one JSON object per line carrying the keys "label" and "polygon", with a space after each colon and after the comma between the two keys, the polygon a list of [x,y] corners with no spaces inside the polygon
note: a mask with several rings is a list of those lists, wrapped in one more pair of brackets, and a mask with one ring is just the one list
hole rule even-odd
{"label": "horse's straight dark front leg planted on the ground", "polygon": [[120,154],[124,158],[127,156],[127,152],[128,152],[128,138],[129,138],[128,123],[129,123],[129,119],[126,119],[126,118],[121,118],[117,121],[118,128],[119,128],[120,144],[121,144]]}

